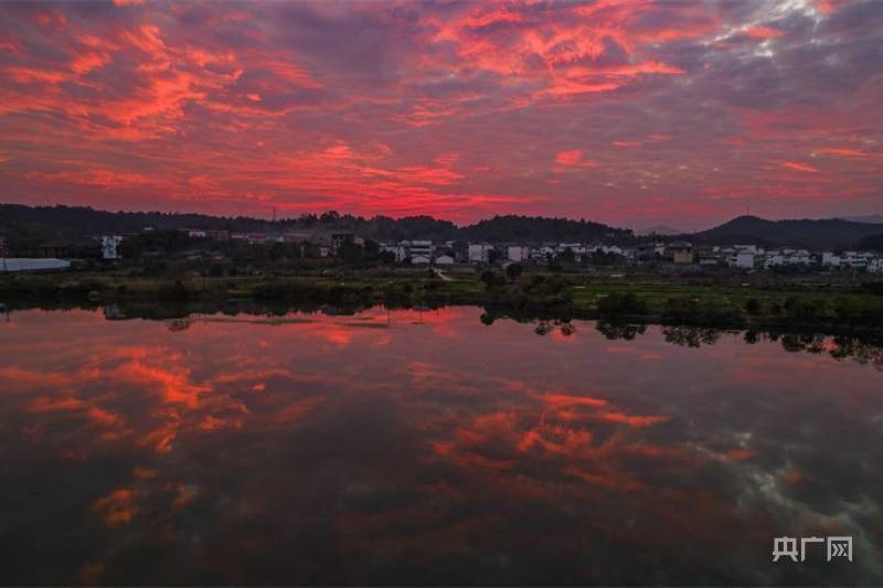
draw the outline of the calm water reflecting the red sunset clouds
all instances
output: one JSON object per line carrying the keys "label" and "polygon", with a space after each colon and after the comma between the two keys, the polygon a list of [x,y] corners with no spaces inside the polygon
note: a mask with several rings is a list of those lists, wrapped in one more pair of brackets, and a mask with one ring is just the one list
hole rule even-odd
{"label": "calm water reflecting the red sunset clouds", "polygon": [[879,348],[481,313],[3,318],[0,584],[883,582]]}

